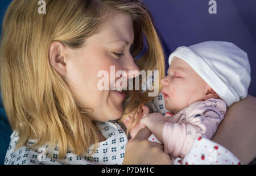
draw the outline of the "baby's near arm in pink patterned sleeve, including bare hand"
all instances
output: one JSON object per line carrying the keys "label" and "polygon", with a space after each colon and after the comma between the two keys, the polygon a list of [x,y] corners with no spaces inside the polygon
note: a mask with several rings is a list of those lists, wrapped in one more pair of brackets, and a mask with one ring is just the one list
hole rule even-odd
{"label": "baby's near arm in pink patterned sleeve, including bare hand", "polygon": [[212,138],[225,111],[226,106],[222,100],[209,99],[191,104],[184,113],[185,120],[182,115],[177,120],[172,119],[179,114],[166,119],[162,114],[153,113],[144,115],[141,124],[146,125],[164,144],[165,152],[174,157],[185,157],[197,137],[205,135]]}

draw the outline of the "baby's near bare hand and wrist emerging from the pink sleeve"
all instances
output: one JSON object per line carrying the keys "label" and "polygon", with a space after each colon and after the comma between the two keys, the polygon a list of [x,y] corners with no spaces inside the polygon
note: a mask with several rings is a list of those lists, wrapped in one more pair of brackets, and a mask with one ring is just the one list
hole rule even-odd
{"label": "baby's near bare hand and wrist emerging from the pink sleeve", "polygon": [[143,115],[141,124],[146,127],[155,135],[155,137],[163,144],[163,128],[167,119],[160,113],[152,113]]}

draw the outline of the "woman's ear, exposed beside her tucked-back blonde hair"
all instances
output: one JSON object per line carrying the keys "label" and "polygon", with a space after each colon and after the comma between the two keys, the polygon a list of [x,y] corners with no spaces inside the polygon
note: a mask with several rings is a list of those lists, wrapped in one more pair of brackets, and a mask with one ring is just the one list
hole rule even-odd
{"label": "woman's ear, exposed beside her tucked-back blonde hair", "polygon": [[65,45],[60,41],[53,41],[49,48],[49,62],[61,76],[65,76],[67,73],[67,64],[65,58]]}

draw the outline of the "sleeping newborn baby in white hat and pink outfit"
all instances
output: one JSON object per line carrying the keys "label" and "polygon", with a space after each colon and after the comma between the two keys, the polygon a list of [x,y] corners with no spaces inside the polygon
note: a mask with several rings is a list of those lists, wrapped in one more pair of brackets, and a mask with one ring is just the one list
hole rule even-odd
{"label": "sleeping newborn baby in white hat and pink outfit", "polygon": [[[184,158],[195,139],[211,139],[224,118],[226,107],[245,98],[250,84],[247,54],[224,41],[207,41],[179,47],[169,57],[168,75],[161,80],[168,111],[143,117],[131,137],[145,126],[164,144],[164,152]],[[137,118],[135,116],[135,118]],[[130,117],[123,123],[127,126]]]}

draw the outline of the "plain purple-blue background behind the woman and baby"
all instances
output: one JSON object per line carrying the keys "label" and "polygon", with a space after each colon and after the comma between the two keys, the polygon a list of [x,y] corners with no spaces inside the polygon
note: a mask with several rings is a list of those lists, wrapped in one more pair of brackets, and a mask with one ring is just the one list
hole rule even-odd
{"label": "plain purple-blue background behind the woman and baby", "polygon": [[[217,0],[217,14],[209,14],[208,0],[143,1],[150,7],[156,29],[164,45],[166,58],[181,45],[189,46],[208,40],[230,41],[242,48],[249,56],[251,65],[249,94],[256,97],[255,0]],[[10,0],[0,2],[1,24],[10,2]],[[19,32],[19,29],[16,32]],[[3,164],[10,134],[10,125],[0,102],[0,164]]]}

